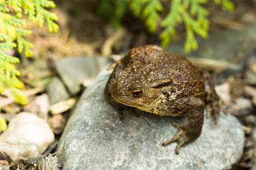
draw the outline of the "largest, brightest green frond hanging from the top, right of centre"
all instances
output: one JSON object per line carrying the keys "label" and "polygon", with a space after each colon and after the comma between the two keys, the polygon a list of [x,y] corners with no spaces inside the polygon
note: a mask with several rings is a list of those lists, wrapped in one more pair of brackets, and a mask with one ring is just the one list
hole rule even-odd
{"label": "largest, brightest green frond hanging from the top, right of centre", "polygon": [[187,32],[184,49],[186,52],[190,52],[191,49],[196,50],[198,45],[195,33],[203,38],[208,37],[209,12],[201,6],[206,2],[206,0],[172,0],[170,13],[161,23],[164,27],[159,36],[162,39],[161,45],[167,45],[171,41],[170,36],[175,34],[176,25],[183,22]]}

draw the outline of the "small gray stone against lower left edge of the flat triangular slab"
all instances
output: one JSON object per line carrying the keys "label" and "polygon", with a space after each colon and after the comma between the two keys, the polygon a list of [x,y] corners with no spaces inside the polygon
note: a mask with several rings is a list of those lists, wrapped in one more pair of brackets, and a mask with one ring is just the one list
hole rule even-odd
{"label": "small gray stone against lower left edge of the flat triangular slab", "polygon": [[68,94],[61,79],[57,76],[53,76],[51,82],[47,84],[46,87],[47,94],[49,95],[50,104],[53,105],[59,101],[67,100],[71,97]]}

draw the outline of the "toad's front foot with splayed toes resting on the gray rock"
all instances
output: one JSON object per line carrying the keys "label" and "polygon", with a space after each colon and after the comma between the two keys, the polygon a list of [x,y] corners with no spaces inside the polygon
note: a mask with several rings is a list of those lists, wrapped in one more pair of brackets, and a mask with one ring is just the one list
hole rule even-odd
{"label": "toad's front foot with splayed toes resting on the gray rock", "polygon": [[171,138],[170,140],[168,141],[165,141],[162,145],[163,146],[166,146],[166,145],[169,145],[170,143],[173,143],[173,142],[178,142],[178,145],[175,149],[175,152],[177,155],[179,155],[179,150],[180,150],[180,147],[191,142],[191,139],[188,137],[187,133],[186,133],[186,129],[185,127],[186,126],[181,126],[175,122],[171,122],[171,124],[177,128],[177,130],[179,130],[179,132],[175,135],[175,137]]}

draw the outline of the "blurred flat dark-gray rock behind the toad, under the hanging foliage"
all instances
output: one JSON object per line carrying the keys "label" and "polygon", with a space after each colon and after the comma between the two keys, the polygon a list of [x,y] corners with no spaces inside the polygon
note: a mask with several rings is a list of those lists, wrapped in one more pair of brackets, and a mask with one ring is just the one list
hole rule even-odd
{"label": "blurred flat dark-gray rock behind the toad, under the hanging foliage", "polygon": [[233,62],[237,57],[237,47],[245,43],[241,52],[246,55],[253,53],[253,42],[256,37],[256,23],[247,25],[244,29],[224,29],[217,33],[209,34],[207,39],[197,37],[199,48],[190,53],[184,51],[184,41],[167,46],[166,51],[182,53],[187,57],[212,58]]}

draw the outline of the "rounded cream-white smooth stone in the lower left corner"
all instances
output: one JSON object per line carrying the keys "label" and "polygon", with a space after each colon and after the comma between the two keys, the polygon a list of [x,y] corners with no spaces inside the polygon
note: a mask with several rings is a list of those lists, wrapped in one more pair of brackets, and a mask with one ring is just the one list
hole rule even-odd
{"label": "rounded cream-white smooth stone in the lower left corner", "polygon": [[6,152],[13,161],[29,159],[42,154],[55,137],[43,118],[32,113],[17,114],[7,130],[0,135],[0,151]]}

